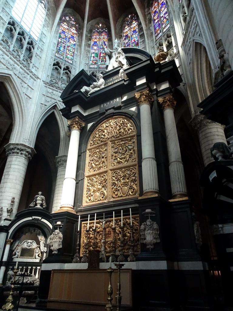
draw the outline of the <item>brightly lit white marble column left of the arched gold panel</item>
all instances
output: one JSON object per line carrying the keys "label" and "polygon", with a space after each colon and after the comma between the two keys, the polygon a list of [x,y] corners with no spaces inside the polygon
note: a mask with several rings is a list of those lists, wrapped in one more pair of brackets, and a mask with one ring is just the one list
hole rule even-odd
{"label": "brightly lit white marble column left of the arched gold panel", "polygon": [[79,117],[68,120],[71,129],[70,145],[66,162],[66,173],[62,187],[61,206],[57,212],[74,211],[75,185],[76,185],[76,170],[79,152],[79,137],[81,129],[85,123]]}

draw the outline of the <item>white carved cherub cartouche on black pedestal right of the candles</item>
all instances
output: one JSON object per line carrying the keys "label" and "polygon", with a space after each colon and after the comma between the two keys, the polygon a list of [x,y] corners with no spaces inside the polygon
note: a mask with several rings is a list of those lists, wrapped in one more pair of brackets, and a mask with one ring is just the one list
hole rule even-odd
{"label": "white carved cherub cartouche on black pedestal right of the candles", "polygon": [[150,251],[154,248],[154,243],[160,242],[159,238],[159,226],[151,219],[147,219],[140,227],[141,243],[146,244],[146,248]]}

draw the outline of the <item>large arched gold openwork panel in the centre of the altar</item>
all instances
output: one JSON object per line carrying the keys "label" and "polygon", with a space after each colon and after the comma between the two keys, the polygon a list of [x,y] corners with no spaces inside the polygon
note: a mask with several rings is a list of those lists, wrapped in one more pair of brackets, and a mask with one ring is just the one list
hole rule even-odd
{"label": "large arched gold openwork panel in the centre of the altar", "polygon": [[135,125],[113,117],[92,133],[87,148],[83,205],[137,197]]}

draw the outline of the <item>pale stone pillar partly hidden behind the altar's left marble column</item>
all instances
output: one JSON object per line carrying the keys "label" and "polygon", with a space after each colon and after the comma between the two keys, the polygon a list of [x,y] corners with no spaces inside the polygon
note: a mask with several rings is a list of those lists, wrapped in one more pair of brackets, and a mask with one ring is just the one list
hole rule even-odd
{"label": "pale stone pillar partly hidden behind the altar's left marble column", "polygon": [[66,155],[56,156],[55,162],[57,165],[57,180],[56,180],[56,186],[55,186],[55,191],[54,191],[52,213],[54,211],[57,211],[57,209],[61,205],[62,186],[63,186],[63,181],[65,178],[65,172],[66,172],[67,156]]}

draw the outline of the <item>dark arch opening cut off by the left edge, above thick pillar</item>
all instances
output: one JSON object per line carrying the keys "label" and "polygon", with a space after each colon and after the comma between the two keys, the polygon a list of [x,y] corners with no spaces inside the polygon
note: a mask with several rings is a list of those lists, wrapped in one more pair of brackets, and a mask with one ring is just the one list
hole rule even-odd
{"label": "dark arch opening cut off by the left edge, above thick pillar", "polygon": [[7,90],[3,84],[0,82],[0,181],[2,179],[2,174],[5,169],[7,156],[4,146],[8,144],[11,137],[12,127],[13,127],[13,117],[11,111],[10,98],[8,96]]}

